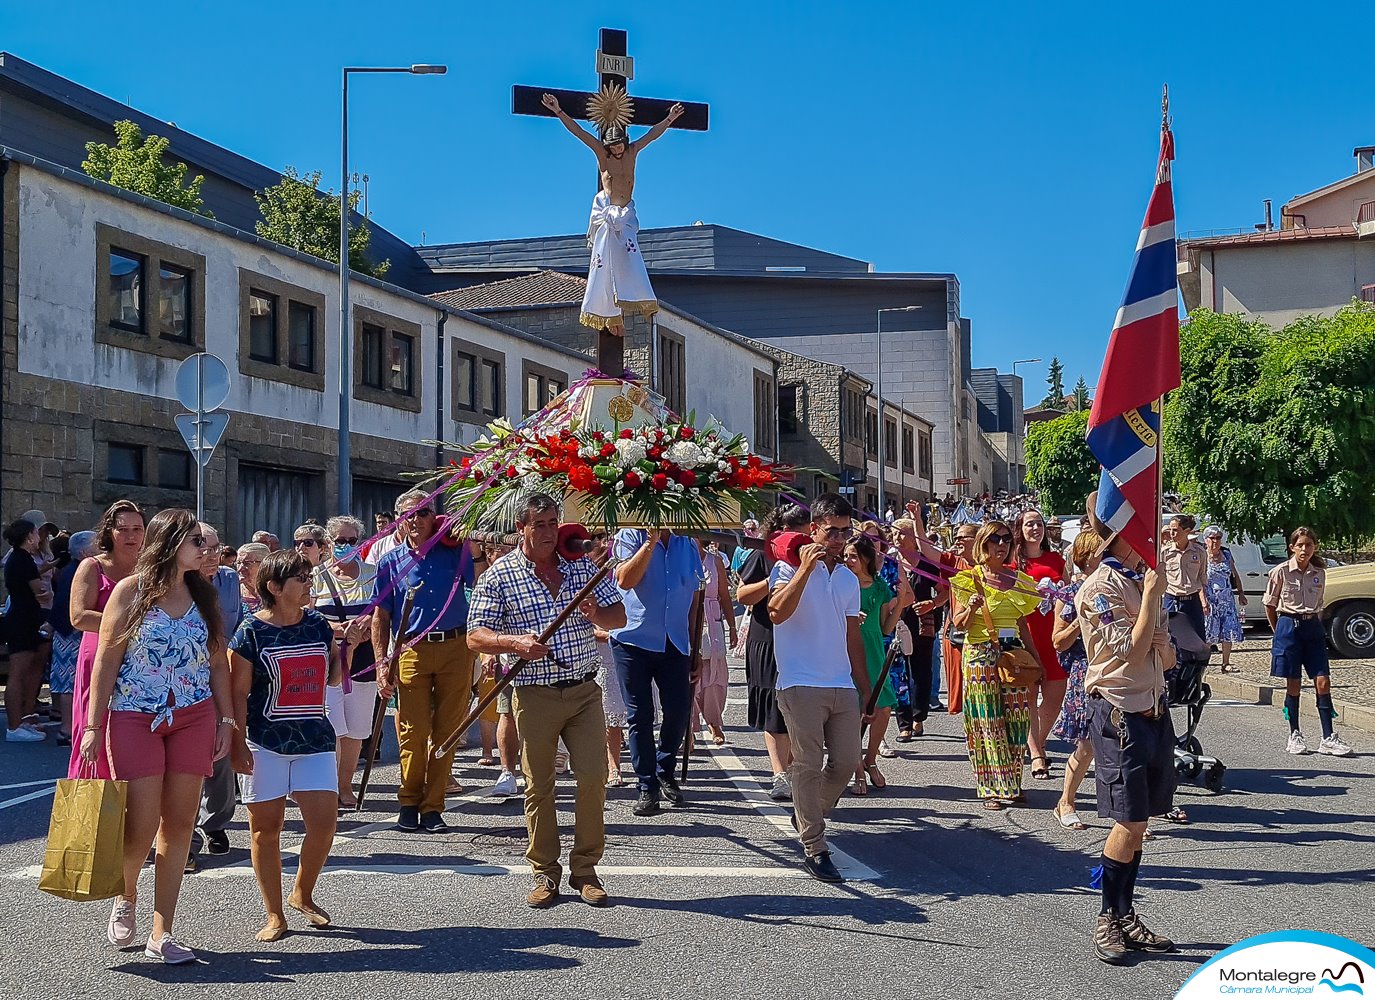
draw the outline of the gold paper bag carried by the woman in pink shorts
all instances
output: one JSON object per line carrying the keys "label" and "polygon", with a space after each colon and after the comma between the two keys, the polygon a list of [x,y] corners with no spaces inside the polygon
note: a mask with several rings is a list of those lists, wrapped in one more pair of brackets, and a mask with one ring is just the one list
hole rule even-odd
{"label": "gold paper bag carried by the woman in pink shorts", "polygon": [[[82,765],[82,772],[88,766]],[[58,781],[38,889],[78,902],[124,893],[128,788],[126,781],[95,777]]]}

